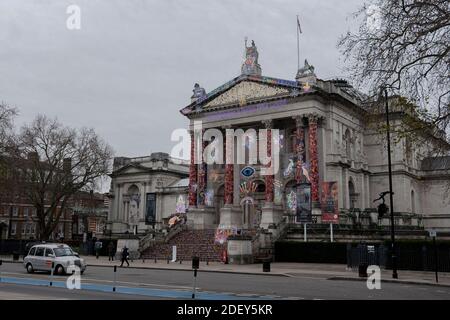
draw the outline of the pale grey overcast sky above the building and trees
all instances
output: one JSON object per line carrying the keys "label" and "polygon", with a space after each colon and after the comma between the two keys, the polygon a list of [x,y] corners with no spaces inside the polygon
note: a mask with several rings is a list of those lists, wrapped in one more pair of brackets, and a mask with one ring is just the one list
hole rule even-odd
{"label": "pale grey overcast sky above the building and trees", "polygon": [[[68,5],[81,8],[69,30]],[[94,127],[118,156],[169,152],[194,83],[207,92],[240,74],[244,38],[263,75],[293,80],[301,61],[342,77],[336,49],[362,0],[0,0],[0,101],[16,123],[37,113]]]}

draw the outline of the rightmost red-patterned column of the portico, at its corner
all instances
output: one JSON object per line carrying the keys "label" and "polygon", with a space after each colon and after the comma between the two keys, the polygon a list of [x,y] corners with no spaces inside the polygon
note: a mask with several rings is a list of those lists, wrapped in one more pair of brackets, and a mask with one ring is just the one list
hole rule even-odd
{"label": "rightmost red-patterned column of the portico, at its corner", "polygon": [[311,200],[314,203],[319,203],[319,157],[317,154],[317,122],[319,117],[316,114],[311,114],[309,120],[309,161],[311,163],[310,178],[311,178]]}

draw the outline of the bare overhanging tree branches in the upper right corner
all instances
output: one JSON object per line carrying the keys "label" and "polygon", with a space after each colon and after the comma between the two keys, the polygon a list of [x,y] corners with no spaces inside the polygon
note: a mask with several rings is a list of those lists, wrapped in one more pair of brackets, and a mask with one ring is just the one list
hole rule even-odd
{"label": "bare overhanging tree branches in the upper right corner", "polygon": [[403,133],[431,130],[448,139],[448,0],[369,0],[354,18],[359,29],[343,36],[338,46],[355,83],[371,92],[369,98],[380,88],[405,98],[396,100],[404,102],[409,115]]}

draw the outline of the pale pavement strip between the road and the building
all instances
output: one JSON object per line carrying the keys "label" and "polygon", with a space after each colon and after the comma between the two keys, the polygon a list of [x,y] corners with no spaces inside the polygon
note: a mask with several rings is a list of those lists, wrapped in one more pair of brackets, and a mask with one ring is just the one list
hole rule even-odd
{"label": "pale pavement strip between the road and the building", "polygon": [[[108,261],[108,257],[81,256],[88,266],[114,267],[120,266],[120,261]],[[12,256],[0,256],[3,262],[14,262]],[[20,262],[15,261],[15,262]],[[178,270],[191,271],[191,261],[176,261],[167,263],[166,260],[134,260],[130,261],[130,267],[124,269],[155,269],[155,270]],[[270,265],[270,272],[264,272],[262,264],[249,265],[231,265],[218,262],[200,263],[202,272],[264,275],[278,277],[298,277],[309,276],[327,280],[346,280],[346,281],[366,281],[366,278],[360,278],[357,270],[349,270],[343,264],[318,264],[318,263],[283,263],[273,262]],[[399,270],[398,279],[392,278],[392,270],[381,270],[381,282],[418,284],[450,287],[450,273],[439,272],[439,282],[436,283],[435,273],[428,271],[407,271]]]}

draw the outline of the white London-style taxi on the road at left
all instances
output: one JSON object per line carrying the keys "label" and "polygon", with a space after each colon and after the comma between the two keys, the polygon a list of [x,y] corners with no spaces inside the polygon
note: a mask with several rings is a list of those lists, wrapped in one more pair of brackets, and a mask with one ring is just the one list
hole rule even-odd
{"label": "white London-style taxi on the road at left", "polygon": [[78,266],[81,274],[86,270],[86,263],[78,253],[66,244],[40,243],[31,247],[23,259],[23,266],[28,273],[34,271],[51,271],[54,263],[54,273],[58,275],[69,273],[70,266]]}

